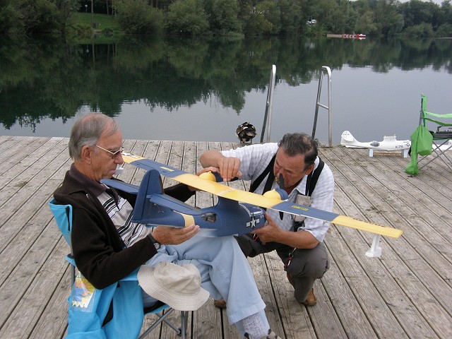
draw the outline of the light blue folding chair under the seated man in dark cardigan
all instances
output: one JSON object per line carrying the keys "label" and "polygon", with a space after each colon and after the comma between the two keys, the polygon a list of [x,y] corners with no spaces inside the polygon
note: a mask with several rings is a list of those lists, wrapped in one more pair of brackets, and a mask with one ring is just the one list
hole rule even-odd
{"label": "light blue folding chair under the seated man in dark cardigan", "polygon": [[[57,225],[59,227],[59,230],[61,231],[61,234],[63,234],[64,239],[66,240],[67,244],[71,248],[71,254],[68,254],[66,256],[66,260],[71,263],[71,278],[72,278],[72,285],[74,285],[76,281],[76,264],[73,260],[72,256],[72,246],[71,246],[71,227],[72,227],[72,206],[71,205],[59,205],[55,199],[52,199],[52,201],[49,202],[50,210],[52,211],[55,221],[57,222]],[[127,281],[134,281],[137,280],[136,278],[136,271],[134,273],[131,273],[131,275],[127,276],[126,278],[119,281],[119,283],[123,284]],[[107,290],[109,287],[106,287],[105,290]],[[140,289],[141,290],[141,289]],[[102,290],[96,290],[96,291],[102,291]],[[182,338],[186,337],[186,325],[187,325],[187,317],[188,317],[188,311],[181,311],[181,327],[177,328],[174,326],[174,324],[167,319],[169,314],[172,313],[174,309],[169,307],[167,304],[163,304],[162,302],[157,302],[157,305],[153,308],[143,309],[144,316],[148,314],[155,314],[157,316],[157,320],[149,327],[147,328],[138,338],[144,338],[146,335],[148,335],[151,331],[153,331],[154,328],[159,326],[160,323],[165,322],[169,327],[171,327],[174,331],[177,332],[177,335],[181,336]],[[142,315],[143,315],[142,314]],[[102,320],[102,319],[101,319]],[[102,324],[103,326],[103,324]],[[115,335],[116,336],[116,335]],[[108,335],[107,335],[108,338]]]}

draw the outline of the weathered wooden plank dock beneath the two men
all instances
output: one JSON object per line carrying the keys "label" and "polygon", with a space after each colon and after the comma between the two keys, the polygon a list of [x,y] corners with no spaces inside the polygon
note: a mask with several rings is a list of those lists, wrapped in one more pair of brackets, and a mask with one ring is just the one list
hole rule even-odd
{"label": "weathered wooden plank dock beneath the two men", "polygon": [[[0,136],[0,338],[64,338],[71,290],[69,247],[47,203],[71,165],[69,138]],[[195,173],[208,149],[237,143],[126,140],[126,151]],[[321,147],[335,177],[334,212],[398,228],[381,237],[381,257],[365,255],[373,234],[331,225],[330,269],[314,290],[317,304],[295,301],[275,252],[249,258],[270,326],[285,339],[452,338],[452,173],[435,161],[412,177],[410,158],[341,145]],[[126,165],[120,179],[139,184]],[[164,185],[173,184],[170,179]],[[231,183],[248,189],[249,183]],[[197,192],[188,203],[210,206]],[[179,312],[173,312],[177,322]],[[145,324],[152,319],[146,319]],[[240,338],[209,301],[190,312],[188,338]],[[166,325],[147,338],[179,338]]]}

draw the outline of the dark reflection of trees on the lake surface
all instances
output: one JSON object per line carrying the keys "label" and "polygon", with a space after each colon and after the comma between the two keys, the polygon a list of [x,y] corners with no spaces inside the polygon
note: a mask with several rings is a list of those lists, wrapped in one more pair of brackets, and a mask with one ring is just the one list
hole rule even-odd
{"label": "dark reflection of trees on the lake surface", "polygon": [[[35,131],[46,119],[64,123],[89,110],[116,117],[126,111],[124,103],[131,102],[150,113],[169,114],[214,102],[215,107],[240,115],[250,93],[261,93],[265,100],[271,64],[277,65],[277,91],[285,85],[311,83],[324,65],[333,71],[347,65],[378,73],[397,68],[451,74],[451,44],[452,40],[276,37],[237,41],[126,37],[115,44],[79,45],[46,38],[3,41],[0,123],[4,129],[19,125]],[[264,102],[261,107],[263,112]]]}

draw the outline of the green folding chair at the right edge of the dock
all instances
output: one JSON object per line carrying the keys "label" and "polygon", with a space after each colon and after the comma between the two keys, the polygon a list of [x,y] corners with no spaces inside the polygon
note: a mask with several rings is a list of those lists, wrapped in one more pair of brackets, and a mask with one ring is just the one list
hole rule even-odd
{"label": "green folding chair at the right edge of the dock", "polygon": [[[448,122],[446,122],[446,119],[449,119]],[[446,166],[449,169],[452,169],[452,160],[446,154],[446,151],[451,150],[452,148],[452,113],[437,114],[428,112],[427,97],[422,94],[419,124],[428,128],[428,121],[432,121],[434,124],[438,125],[436,126],[436,131],[430,131],[433,136],[432,153],[434,153],[434,155],[433,157],[427,157],[427,155],[421,157],[420,160],[417,161],[417,164],[419,165],[421,161],[424,161],[424,163],[419,169],[422,169],[422,167],[428,165],[437,158],[443,160]]]}

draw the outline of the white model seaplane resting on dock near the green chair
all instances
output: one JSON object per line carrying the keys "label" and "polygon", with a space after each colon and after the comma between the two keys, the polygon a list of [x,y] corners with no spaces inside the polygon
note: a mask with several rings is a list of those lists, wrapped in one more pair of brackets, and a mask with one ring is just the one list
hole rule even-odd
{"label": "white model seaplane resting on dock near the green chair", "polygon": [[403,157],[408,157],[408,150],[410,149],[411,141],[397,140],[396,136],[384,136],[383,141],[361,143],[352,136],[352,133],[349,131],[343,131],[340,136],[340,144],[349,148],[369,148],[369,157],[374,156],[374,150],[400,150]]}

